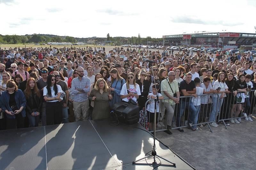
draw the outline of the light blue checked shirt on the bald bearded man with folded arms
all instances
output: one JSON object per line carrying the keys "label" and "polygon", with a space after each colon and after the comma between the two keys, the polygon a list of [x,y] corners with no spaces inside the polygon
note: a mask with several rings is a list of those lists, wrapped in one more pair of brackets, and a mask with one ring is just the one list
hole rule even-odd
{"label": "light blue checked shirt on the bald bearded man with folded arms", "polygon": [[[91,80],[87,77],[82,77],[82,80],[79,80],[79,77],[76,77],[72,80],[71,83],[71,92],[74,95],[74,101],[75,102],[84,102],[88,100],[88,92],[90,91],[90,85],[91,85]],[[86,88],[86,86],[88,86]],[[77,89],[83,89],[85,93],[79,93]]]}

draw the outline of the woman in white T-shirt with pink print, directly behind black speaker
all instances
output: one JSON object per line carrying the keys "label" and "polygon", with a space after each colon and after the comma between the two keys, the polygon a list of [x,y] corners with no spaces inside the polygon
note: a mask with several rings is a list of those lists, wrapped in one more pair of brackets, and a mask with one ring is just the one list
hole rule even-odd
{"label": "woman in white T-shirt with pink print, directly behind black speaker", "polygon": [[140,96],[140,86],[135,83],[135,76],[132,72],[127,75],[127,81],[123,85],[120,95],[124,102],[129,102],[129,100],[132,99],[137,103],[137,99]]}

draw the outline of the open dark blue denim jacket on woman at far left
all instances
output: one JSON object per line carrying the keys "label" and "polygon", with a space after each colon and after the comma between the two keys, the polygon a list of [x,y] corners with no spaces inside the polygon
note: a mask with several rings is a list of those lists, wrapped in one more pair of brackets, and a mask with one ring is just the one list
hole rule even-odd
{"label": "open dark blue denim jacket on woman at far left", "polygon": [[[4,110],[12,111],[11,107],[9,106],[9,99],[10,99],[10,95],[9,95],[8,91],[5,90],[2,93],[2,95],[0,96],[0,107],[2,108],[3,111]],[[26,101],[25,95],[23,94],[23,92],[20,89],[18,89],[18,91],[16,91],[16,93],[15,93],[15,101],[16,101],[18,109],[20,109],[20,107],[23,106],[21,115],[22,115],[22,117],[25,117],[26,116],[25,108],[26,108],[27,101]],[[5,115],[7,118],[15,119],[15,115],[9,115],[7,113],[5,113]]]}

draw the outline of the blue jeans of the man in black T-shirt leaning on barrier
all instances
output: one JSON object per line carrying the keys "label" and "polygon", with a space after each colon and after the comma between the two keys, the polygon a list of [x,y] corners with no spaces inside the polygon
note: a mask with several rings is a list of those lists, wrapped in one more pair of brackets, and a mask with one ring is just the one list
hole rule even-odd
{"label": "blue jeans of the man in black T-shirt leaning on barrier", "polygon": [[[180,117],[182,117],[183,112],[185,109],[189,110],[188,113],[188,123],[193,124],[195,121],[195,117],[196,117],[196,108],[193,105],[193,102],[191,100],[182,101],[180,100],[180,103],[178,104],[178,112],[177,112],[177,117],[176,117],[176,126],[180,127]],[[196,128],[196,126],[192,126],[193,129]]]}

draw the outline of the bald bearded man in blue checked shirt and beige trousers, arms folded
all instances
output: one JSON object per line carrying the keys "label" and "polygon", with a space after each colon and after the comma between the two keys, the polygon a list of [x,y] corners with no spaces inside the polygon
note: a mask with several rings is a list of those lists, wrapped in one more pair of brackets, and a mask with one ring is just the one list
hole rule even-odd
{"label": "bald bearded man in blue checked shirt and beige trousers, arms folded", "polygon": [[[87,71],[88,68],[90,67],[87,67]],[[84,76],[83,67],[78,67],[77,72],[78,77],[74,78],[71,83],[71,92],[74,95],[73,110],[75,113],[76,121],[89,120],[88,92],[90,91],[91,81],[89,78]]]}

